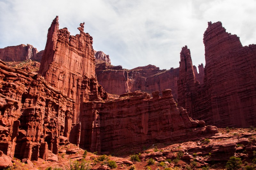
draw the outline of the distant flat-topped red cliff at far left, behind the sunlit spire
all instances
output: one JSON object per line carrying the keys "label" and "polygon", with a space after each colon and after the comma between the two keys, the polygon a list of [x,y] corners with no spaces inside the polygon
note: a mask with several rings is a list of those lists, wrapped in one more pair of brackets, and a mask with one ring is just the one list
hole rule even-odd
{"label": "distant flat-topped red cliff at far left, behind the sunlit spire", "polygon": [[31,59],[40,62],[42,58],[42,53],[40,52],[38,53],[37,49],[30,44],[20,44],[0,49],[0,59],[3,61],[23,61]]}

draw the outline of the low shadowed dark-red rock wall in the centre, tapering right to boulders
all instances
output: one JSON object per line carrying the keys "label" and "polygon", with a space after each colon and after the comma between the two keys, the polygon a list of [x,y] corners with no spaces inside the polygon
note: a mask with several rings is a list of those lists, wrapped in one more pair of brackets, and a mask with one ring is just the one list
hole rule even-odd
{"label": "low shadowed dark-red rock wall in the centre, tapering right to boulders", "polygon": [[[178,141],[215,133],[178,109],[170,89],[147,93],[135,91],[108,102],[86,102],[81,117],[80,146],[91,151],[109,151],[146,143]],[[85,126],[83,126],[85,125]]]}

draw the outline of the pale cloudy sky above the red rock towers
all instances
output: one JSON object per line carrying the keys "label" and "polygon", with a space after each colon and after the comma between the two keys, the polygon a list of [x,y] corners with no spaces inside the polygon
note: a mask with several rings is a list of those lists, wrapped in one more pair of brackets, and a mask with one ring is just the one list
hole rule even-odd
{"label": "pale cloudy sky above the red rock towers", "polygon": [[243,46],[253,44],[255,7],[255,0],[0,0],[0,48],[31,44],[44,50],[58,15],[59,28],[67,27],[71,35],[85,22],[94,50],[108,54],[112,65],[176,68],[185,45],[193,65],[205,65],[208,21],[221,21]]}

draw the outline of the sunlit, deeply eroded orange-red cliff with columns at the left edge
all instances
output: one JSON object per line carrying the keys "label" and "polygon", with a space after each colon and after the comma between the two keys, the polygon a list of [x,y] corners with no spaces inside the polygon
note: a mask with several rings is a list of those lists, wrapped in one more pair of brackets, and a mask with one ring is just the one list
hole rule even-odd
{"label": "sunlit, deeply eroded orange-red cliff with columns at the left edge", "polygon": [[36,73],[0,61],[0,150],[16,158],[47,159],[58,153],[60,136],[68,136],[74,100],[49,86]]}

